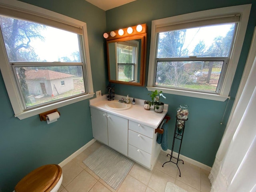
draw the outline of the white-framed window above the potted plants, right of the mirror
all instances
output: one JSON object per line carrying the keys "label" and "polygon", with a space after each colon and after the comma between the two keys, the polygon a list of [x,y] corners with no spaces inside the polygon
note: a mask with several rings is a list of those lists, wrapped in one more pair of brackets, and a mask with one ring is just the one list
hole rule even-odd
{"label": "white-framed window above the potted plants, right of the mirror", "polygon": [[152,21],[148,90],[226,100],[249,13],[243,5]]}

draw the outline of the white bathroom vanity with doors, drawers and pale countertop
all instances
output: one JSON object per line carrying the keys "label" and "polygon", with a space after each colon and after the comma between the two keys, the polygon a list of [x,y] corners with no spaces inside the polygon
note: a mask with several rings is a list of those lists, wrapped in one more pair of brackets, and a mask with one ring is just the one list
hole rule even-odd
{"label": "white bathroom vanity with doors, drawers and pale countertop", "polygon": [[[116,100],[122,97],[115,95]],[[90,100],[93,137],[152,170],[161,148],[156,142],[155,130],[164,120],[168,105],[165,104],[164,111],[159,114],[144,110],[144,100],[140,99],[127,110],[109,109],[106,107],[109,102],[106,97]]]}

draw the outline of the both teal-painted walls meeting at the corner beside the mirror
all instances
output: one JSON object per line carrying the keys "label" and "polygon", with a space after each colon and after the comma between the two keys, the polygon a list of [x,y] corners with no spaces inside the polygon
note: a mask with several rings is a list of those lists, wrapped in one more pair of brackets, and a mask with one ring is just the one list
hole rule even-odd
{"label": "both teal-painted walls meeting at the corner beside the mirror", "polygon": [[[105,93],[108,84],[106,42],[103,32],[146,23],[148,26],[146,82],[150,46],[151,20],[224,6],[252,3],[252,11],[242,54],[236,70],[223,125],[220,125],[227,102],[165,94],[169,104],[168,148],[171,148],[174,116],[178,104],[190,106],[189,120],[181,153],[196,161],[212,166],[225,124],[244,69],[256,24],[255,0],[137,0],[130,4],[103,11],[85,0],[21,0],[87,23],[90,61],[94,92]],[[12,191],[25,174],[43,164],[62,162],[92,139],[88,100],[59,108],[60,119],[47,125],[38,116],[19,120],[12,106],[0,74],[0,192]],[[116,94],[149,99],[144,87],[115,85]],[[176,149],[177,150],[177,149]]]}

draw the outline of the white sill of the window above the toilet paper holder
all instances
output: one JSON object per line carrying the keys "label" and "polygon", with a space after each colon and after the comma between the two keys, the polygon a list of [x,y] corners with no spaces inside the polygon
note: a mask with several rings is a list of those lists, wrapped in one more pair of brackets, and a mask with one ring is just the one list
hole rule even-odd
{"label": "white sill of the window above the toilet paper holder", "polygon": [[82,101],[82,100],[92,98],[93,96],[94,96],[94,93],[90,93],[90,94],[86,94],[86,95],[79,96],[79,97],[76,97],[76,98],[71,98],[71,99],[68,99],[68,100],[56,102],[54,104],[50,104],[50,105],[47,105],[47,106],[42,106],[42,107],[39,107],[39,108],[24,111],[20,114],[15,115],[15,117],[18,117],[20,120],[22,120],[22,119],[32,117],[34,115],[38,115],[40,113],[43,113],[43,112],[46,112],[46,111],[49,111],[49,110],[53,110],[53,109],[56,109],[56,108],[59,108],[59,107],[63,107],[63,106],[69,105],[69,104],[73,104],[73,103],[76,103],[76,102],[79,102],[79,101]]}

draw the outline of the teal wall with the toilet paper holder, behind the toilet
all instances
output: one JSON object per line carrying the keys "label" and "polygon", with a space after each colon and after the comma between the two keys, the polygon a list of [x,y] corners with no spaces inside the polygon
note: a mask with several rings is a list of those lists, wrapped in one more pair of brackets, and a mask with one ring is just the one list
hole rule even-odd
{"label": "teal wall with the toilet paper holder, behind the toilet", "polygon": [[[106,30],[104,10],[85,0],[22,0],[86,22],[94,92],[105,90]],[[0,192],[11,192],[28,172],[44,164],[59,164],[92,140],[88,100],[58,108],[57,122],[41,122],[38,115],[19,120],[14,112],[0,73]]]}

